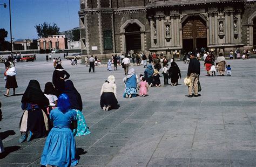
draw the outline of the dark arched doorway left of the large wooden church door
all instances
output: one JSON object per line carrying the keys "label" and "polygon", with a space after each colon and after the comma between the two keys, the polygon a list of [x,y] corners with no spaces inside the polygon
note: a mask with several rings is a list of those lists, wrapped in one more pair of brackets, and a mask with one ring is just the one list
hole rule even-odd
{"label": "dark arched doorway left of the large wooden church door", "polygon": [[125,28],[125,43],[126,51],[133,50],[134,53],[142,51],[140,26],[138,24],[129,24]]}

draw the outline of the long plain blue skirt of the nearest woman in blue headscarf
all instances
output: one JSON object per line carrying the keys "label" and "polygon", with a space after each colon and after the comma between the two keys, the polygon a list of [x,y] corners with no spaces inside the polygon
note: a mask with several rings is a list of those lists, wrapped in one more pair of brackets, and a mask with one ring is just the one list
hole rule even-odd
{"label": "long plain blue skirt of the nearest woman in blue headscarf", "polygon": [[75,166],[76,141],[69,128],[52,128],[44,145],[41,156],[42,165]]}

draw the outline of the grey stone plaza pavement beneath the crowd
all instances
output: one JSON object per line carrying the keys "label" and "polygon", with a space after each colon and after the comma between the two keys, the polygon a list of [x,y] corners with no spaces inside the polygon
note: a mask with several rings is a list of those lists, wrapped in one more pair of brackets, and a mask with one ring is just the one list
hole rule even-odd
{"label": "grey stone plaza pavement beneath the crowd", "polygon": [[[42,90],[52,80],[51,62],[45,55],[35,62],[19,62],[17,94],[36,79]],[[181,85],[149,89],[145,98],[122,97],[124,72],[96,67],[89,73],[85,65],[63,67],[82,95],[83,114],[91,134],[76,137],[78,166],[256,166],[256,59],[227,60],[232,76],[205,76],[201,61],[201,96],[187,98],[183,83],[187,64],[181,69]],[[143,66],[132,66],[143,74]],[[4,65],[1,65],[1,74]],[[103,112],[99,106],[100,88],[110,74],[116,77],[120,107]],[[163,77],[160,78],[163,82]],[[5,81],[0,80],[5,93]],[[12,90],[10,91],[12,93]],[[0,166],[40,166],[45,138],[18,143],[22,95],[2,101],[1,136],[8,155]]]}

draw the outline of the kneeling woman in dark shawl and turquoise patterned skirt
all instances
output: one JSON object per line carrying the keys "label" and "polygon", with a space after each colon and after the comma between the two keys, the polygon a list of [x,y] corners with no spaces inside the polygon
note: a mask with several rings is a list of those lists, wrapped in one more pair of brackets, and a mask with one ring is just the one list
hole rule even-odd
{"label": "kneeling woman in dark shawl and turquoise patterned skirt", "polygon": [[69,96],[71,105],[70,108],[75,110],[77,113],[77,128],[73,129],[73,135],[82,136],[90,134],[91,132],[89,130],[89,127],[87,127],[84,115],[82,113],[83,102],[81,95],[78,93],[71,80],[65,82],[64,93]]}

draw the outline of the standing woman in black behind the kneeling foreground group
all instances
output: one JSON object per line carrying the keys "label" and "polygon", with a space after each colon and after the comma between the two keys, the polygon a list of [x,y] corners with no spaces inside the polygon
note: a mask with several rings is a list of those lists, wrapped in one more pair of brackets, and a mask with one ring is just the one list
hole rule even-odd
{"label": "standing woman in black behind the kneeling foreground group", "polygon": [[60,95],[65,89],[65,80],[69,79],[70,75],[64,70],[62,65],[58,64],[52,75],[52,83],[56,88],[57,94]]}

